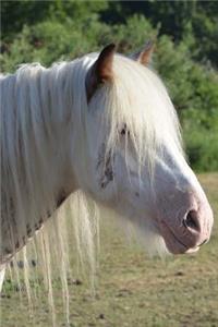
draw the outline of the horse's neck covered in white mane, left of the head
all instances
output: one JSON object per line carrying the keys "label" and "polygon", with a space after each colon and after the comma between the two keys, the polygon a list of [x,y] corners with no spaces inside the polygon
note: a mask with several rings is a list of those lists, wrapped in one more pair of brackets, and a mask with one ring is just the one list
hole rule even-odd
{"label": "horse's neck covered in white mane, left of the head", "polygon": [[5,206],[0,262],[25,245],[77,189],[73,149],[78,147],[75,126],[84,99],[73,94],[70,69],[73,73],[66,63],[50,70],[27,66],[2,85]]}

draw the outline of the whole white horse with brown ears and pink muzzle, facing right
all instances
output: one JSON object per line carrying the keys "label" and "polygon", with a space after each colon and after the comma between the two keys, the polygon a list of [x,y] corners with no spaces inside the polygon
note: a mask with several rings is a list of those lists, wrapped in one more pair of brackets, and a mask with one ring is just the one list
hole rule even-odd
{"label": "whole white horse with brown ears and pink muzzle, facing right", "polygon": [[1,76],[1,283],[5,264],[77,190],[173,254],[209,239],[213,213],[150,52],[130,59],[109,45]]}

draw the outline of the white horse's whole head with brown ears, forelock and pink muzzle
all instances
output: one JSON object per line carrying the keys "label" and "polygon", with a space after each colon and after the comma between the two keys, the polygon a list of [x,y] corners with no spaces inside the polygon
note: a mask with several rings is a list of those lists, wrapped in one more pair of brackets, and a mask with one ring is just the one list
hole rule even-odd
{"label": "white horse's whole head with brown ears, forelock and pink muzzle", "polygon": [[173,105],[147,65],[152,50],[125,58],[109,45],[88,69],[84,187],[169,252],[195,252],[210,237],[213,211],[185,160]]}

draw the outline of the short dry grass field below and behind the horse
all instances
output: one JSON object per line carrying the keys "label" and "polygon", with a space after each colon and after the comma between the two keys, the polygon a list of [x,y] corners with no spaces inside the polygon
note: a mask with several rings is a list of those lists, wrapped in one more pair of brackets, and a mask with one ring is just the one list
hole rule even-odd
{"label": "short dry grass field below and behind the horse", "polygon": [[[80,274],[69,280],[72,327],[218,326],[218,173],[199,180],[215,213],[210,242],[196,255],[149,258],[108,221],[101,231],[96,295]],[[51,326],[47,295],[40,293],[31,325],[26,295],[20,304],[20,293],[9,283],[1,299],[2,327]],[[65,326],[60,283],[55,281],[53,288],[57,326]]]}

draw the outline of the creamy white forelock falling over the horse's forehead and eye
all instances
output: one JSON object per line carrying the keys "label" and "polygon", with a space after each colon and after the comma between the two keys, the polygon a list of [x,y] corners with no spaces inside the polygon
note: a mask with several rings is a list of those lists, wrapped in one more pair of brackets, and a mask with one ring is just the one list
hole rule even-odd
{"label": "creamy white forelock falling over the horse's forehead and eye", "polygon": [[125,125],[138,166],[148,160],[152,175],[155,157],[161,156],[166,144],[183,154],[175,110],[166,87],[150,69],[116,55],[112,74],[112,81],[102,83],[90,101],[92,110],[105,110],[102,124],[109,130],[106,153],[116,148]]}

